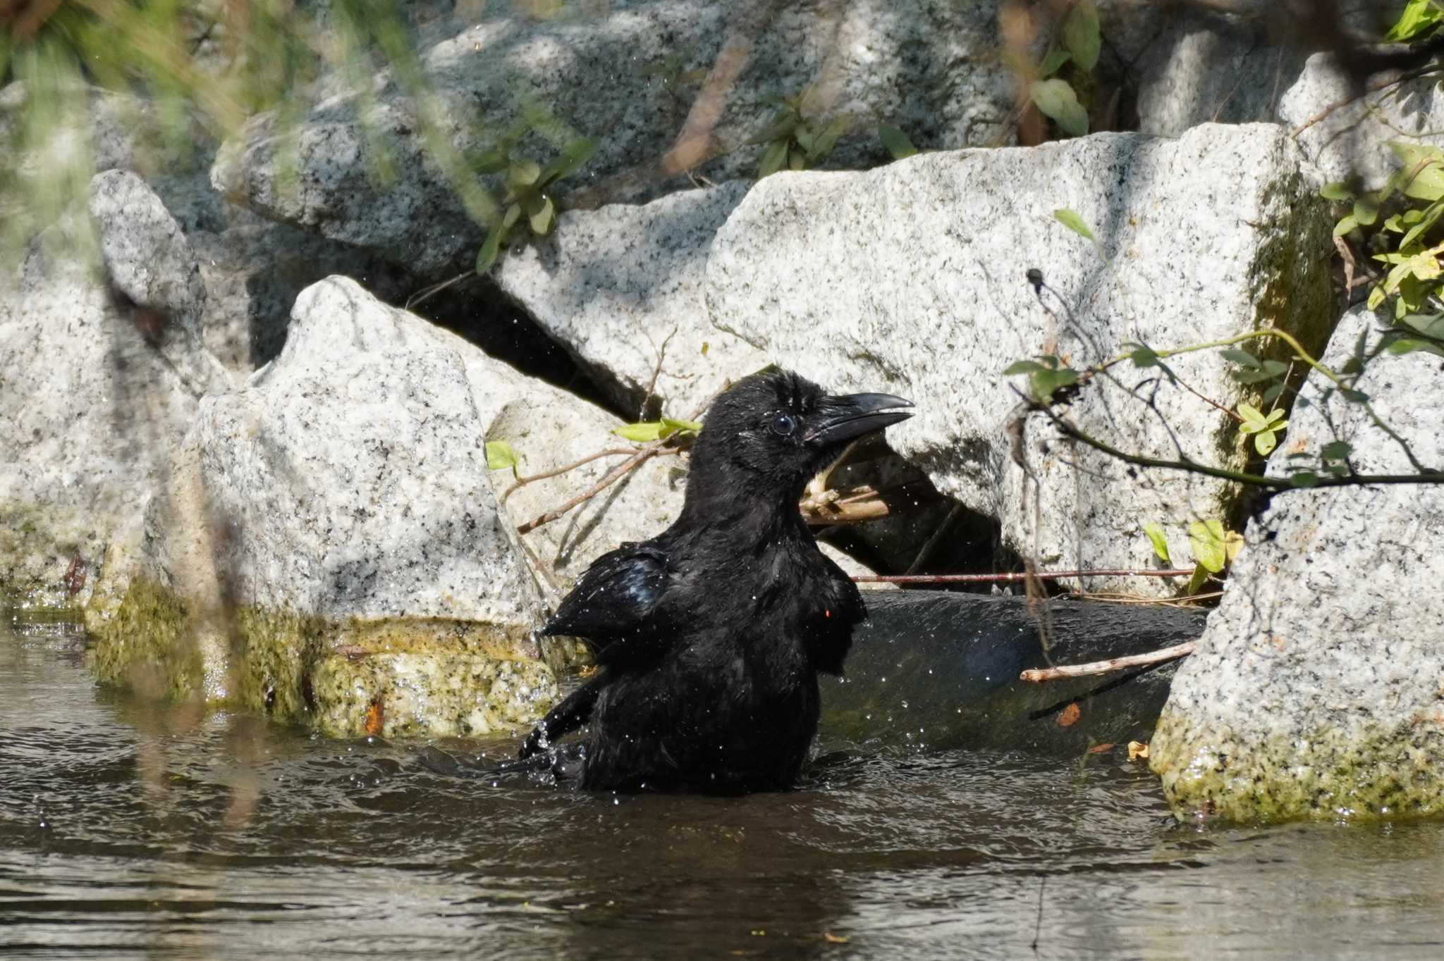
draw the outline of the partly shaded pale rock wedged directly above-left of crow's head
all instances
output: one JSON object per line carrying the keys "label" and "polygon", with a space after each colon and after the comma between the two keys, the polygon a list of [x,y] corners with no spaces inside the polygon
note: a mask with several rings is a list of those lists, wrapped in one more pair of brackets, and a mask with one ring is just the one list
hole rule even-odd
{"label": "partly shaded pale rock wedged directly above-left of crow's head", "polygon": [[767,365],[735,335],[708,323],[708,250],[747,193],[735,180],[644,206],[569,211],[556,234],[501,261],[497,281],[622,408],[653,390],[670,417],[692,417],[721,390]]}

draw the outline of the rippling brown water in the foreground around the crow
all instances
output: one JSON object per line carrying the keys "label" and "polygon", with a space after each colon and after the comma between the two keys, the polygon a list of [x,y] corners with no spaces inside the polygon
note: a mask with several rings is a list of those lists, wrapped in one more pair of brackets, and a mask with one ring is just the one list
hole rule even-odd
{"label": "rippling brown water in the foreground around the crow", "polygon": [[822,749],[783,795],[492,788],[0,629],[0,954],[1444,955],[1440,824],[1175,825],[1136,763]]}

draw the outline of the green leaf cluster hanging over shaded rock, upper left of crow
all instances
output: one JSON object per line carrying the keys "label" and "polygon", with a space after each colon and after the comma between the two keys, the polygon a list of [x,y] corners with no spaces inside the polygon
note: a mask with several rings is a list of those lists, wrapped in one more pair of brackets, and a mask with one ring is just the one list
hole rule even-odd
{"label": "green leaf cluster hanging over shaded rock, upper left of crow", "polygon": [[530,123],[526,121],[514,126],[497,146],[475,160],[478,173],[501,173],[504,183],[501,214],[487,232],[481,250],[477,251],[478,274],[491,270],[501,255],[501,248],[510,242],[513,231],[520,224],[526,225],[524,229],[531,237],[546,237],[552,232],[557,211],[556,182],[575,173],[596,152],[596,140],[570,137],[562,144],[557,156],[542,166],[530,157],[514,153],[517,143],[530,128]]}

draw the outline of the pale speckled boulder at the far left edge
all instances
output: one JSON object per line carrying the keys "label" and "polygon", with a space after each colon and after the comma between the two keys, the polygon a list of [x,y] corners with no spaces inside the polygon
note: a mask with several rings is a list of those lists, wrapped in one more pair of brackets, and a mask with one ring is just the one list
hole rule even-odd
{"label": "pale speckled boulder at the far left edge", "polygon": [[56,224],[0,286],[0,583],[27,607],[105,606],[98,571],[136,547],[198,397],[230,385],[156,196],[111,172],[91,209],[94,231]]}

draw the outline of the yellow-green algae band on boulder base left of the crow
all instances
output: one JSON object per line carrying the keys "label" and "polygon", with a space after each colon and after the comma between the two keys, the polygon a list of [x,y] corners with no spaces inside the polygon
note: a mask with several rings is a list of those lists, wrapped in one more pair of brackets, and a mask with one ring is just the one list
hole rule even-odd
{"label": "yellow-green algae band on boulder base left of the crow", "polygon": [[105,684],[313,726],[335,737],[513,732],[556,701],[553,670],[514,629],[439,618],[328,620],[192,609],[136,579],[94,633]]}

